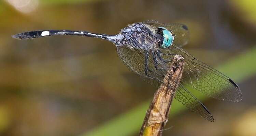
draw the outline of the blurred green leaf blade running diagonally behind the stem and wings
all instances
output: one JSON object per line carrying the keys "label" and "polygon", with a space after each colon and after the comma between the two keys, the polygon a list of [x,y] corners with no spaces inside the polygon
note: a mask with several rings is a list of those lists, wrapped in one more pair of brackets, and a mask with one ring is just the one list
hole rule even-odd
{"label": "blurred green leaf blade running diagonally behind the stem and wings", "polygon": [[[236,82],[242,82],[252,76],[256,75],[256,65],[252,62],[256,58],[256,48],[250,49],[246,52],[241,53],[237,57],[234,57],[226,64],[219,66],[217,69]],[[241,68],[241,66],[244,66]],[[191,89],[189,89],[191,91]],[[205,100],[205,97],[199,91],[192,90],[193,94],[197,96],[199,100]],[[243,91],[243,90],[242,90]],[[194,93],[195,92],[195,93]],[[146,110],[150,104],[150,101],[146,101],[137,107],[131,109],[125,114],[110,120],[94,130],[82,134],[81,136],[128,136],[134,133],[139,134],[142,121],[144,119]],[[170,117],[184,111],[186,109],[180,102],[174,100],[172,103]]]}

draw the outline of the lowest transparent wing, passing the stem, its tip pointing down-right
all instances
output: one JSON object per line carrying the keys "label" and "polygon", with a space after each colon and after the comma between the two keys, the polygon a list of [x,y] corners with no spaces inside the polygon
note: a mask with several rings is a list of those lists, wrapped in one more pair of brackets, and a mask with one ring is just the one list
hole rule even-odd
{"label": "lowest transparent wing, passing the stem, its tip pointing down-right", "polygon": [[[153,33],[152,33],[153,34]],[[133,47],[132,49],[128,46],[117,46],[117,53],[124,64],[133,72],[137,73],[141,78],[145,81],[156,85],[157,87],[163,83],[163,78],[167,73],[167,69],[170,69],[171,66],[169,63],[161,63],[160,60],[157,60],[158,65],[160,67],[159,70],[156,70],[154,66],[154,54],[150,52],[150,50],[145,49],[138,49],[136,47],[144,47],[143,45],[147,44],[155,44],[154,36],[147,35],[146,33],[140,33],[137,37],[130,38],[126,40],[126,44],[130,45],[129,47]],[[145,54],[148,55],[148,73],[145,74]],[[173,60],[173,58],[169,58]],[[173,84],[175,81],[172,81]],[[172,86],[171,89],[174,89]],[[168,95],[170,92],[166,92]],[[184,104],[186,107],[191,109],[193,112],[199,114],[200,116],[204,117],[209,121],[214,121],[212,115],[207,110],[207,108],[198,101],[186,88],[180,85],[175,92],[174,98]]]}

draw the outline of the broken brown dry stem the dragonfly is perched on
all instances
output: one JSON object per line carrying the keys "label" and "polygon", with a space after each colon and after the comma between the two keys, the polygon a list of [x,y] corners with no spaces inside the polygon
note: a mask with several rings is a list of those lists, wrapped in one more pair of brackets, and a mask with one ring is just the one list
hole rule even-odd
{"label": "broken brown dry stem the dragonfly is perched on", "polygon": [[168,121],[171,102],[174,98],[174,95],[168,94],[175,94],[179,85],[177,83],[180,83],[182,77],[183,64],[184,58],[175,55],[173,62],[171,62],[171,68],[163,79],[163,84],[155,92],[154,98],[147,109],[140,136],[161,136],[161,130]]}

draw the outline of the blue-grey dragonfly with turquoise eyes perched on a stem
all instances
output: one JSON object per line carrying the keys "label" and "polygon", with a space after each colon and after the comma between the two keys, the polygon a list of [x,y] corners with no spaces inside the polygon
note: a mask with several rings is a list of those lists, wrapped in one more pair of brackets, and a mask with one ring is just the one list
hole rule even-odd
{"label": "blue-grey dragonfly with turquoise eyes perched on a stem", "polygon": [[[184,58],[184,70],[173,96],[187,108],[201,117],[214,122],[209,110],[189,91],[193,88],[203,94],[230,102],[242,100],[239,86],[218,70],[199,61],[182,47],[188,43],[188,27],[180,23],[162,23],[154,20],[137,22],[120,30],[117,35],[90,33],[72,30],[40,30],[13,35],[16,39],[33,39],[54,35],[75,35],[101,38],[115,44],[117,54],[123,63],[143,80],[159,87],[167,71],[173,67],[170,62],[175,55]],[[172,86],[170,89],[175,90]]]}

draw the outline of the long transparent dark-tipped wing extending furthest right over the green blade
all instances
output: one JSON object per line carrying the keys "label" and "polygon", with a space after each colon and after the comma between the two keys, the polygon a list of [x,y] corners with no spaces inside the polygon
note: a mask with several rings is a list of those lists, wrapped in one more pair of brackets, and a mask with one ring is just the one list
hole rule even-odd
{"label": "long transparent dark-tipped wing extending furthest right over the green blade", "polygon": [[[145,31],[144,33],[152,35]],[[186,64],[181,79],[182,84],[186,84],[216,99],[232,102],[242,100],[242,91],[236,83],[218,70],[200,62],[181,47],[173,44],[169,48],[158,48],[158,50],[161,52],[162,58],[166,60],[172,59],[173,54],[179,54],[184,57]]]}

